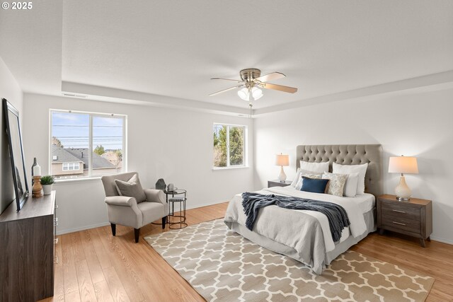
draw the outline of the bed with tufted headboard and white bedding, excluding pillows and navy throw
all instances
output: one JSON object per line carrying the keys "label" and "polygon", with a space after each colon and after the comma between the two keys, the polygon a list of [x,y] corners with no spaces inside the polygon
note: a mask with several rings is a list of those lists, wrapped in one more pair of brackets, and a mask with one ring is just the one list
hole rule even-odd
{"label": "bed with tufted headboard and white bedding, excluding pillows and navy throw", "polygon": [[284,209],[275,205],[260,209],[253,231],[246,228],[242,197],[237,194],[229,202],[225,214],[226,225],[236,233],[269,250],[273,250],[303,262],[321,274],[338,255],[352,245],[376,231],[375,197],[382,194],[382,146],[367,145],[311,145],[297,146],[297,168],[299,161],[309,163],[333,163],[360,165],[368,163],[365,174],[365,194],[355,197],[338,197],[330,194],[301,192],[293,186],[270,187],[258,191],[260,194],[302,197],[340,204],[350,219],[349,228],[343,229],[341,238],[333,243],[328,232],[326,216],[315,211]]}

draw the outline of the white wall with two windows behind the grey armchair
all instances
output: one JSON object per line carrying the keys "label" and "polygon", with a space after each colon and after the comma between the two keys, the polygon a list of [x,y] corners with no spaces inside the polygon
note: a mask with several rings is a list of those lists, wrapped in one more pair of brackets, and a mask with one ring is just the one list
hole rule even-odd
{"label": "white wall with two windows behind the grey armchair", "polygon": [[[49,165],[49,110],[82,110],[127,115],[127,165],[144,187],[164,178],[188,190],[188,208],[225,202],[253,189],[253,120],[186,110],[105,103],[48,95],[24,95],[23,124],[27,166],[38,158],[42,173]],[[212,124],[248,126],[248,168],[212,170]],[[101,180],[55,184],[58,233],[108,223]]]}

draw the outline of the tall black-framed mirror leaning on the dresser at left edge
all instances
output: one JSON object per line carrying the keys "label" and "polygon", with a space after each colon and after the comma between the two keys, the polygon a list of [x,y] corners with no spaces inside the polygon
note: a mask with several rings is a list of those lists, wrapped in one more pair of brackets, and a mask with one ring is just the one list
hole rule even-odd
{"label": "tall black-framed mirror leaning on the dresser at left edge", "polygon": [[[28,199],[27,172],[25,170],[25,157],[23,156],[23,144],[19,112],[11,103],[2,98],[6,134],[8,135],[9,154],[11,158],[11,170],[13,176],[14,194],[16,196],[16,211],[20,211]],[[1,211],[0,211],[1,213]]]}

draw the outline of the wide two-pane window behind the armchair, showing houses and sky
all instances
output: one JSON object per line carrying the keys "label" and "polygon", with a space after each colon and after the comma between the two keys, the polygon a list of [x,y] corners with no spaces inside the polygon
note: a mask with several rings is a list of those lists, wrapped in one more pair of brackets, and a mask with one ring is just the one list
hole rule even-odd
{"label": "wide two-pane window behind the armchair, showing houses and sky", "polygon": [[50,173],[81,178],[125,172],[125,115],[50,110]]}

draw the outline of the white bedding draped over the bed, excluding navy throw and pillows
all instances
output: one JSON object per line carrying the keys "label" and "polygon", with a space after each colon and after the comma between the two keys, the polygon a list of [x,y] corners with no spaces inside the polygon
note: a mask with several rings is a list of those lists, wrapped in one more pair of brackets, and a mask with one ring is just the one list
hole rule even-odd
{"label": "white bedding draped over the bed, excluding navy throw and pillows", "polygon": [[[292,250],[294,259],[309,265],[314,272],[320,274],[327,262],[330,262],[328,255],[335,255],[337,245],[342,245],[342,249],[348,249],[364,238],[374,229],[369,227],[365,214],[374,209],[374,196],[372,194],[362,194],[357,197],[336,197],[329,194],[317,194],[311,192],[301,192],[294,187],[270,187],[258,191],[260,194],[276,194],[283,196],[302,197],[307,199],[333,202],[342,206],[348,213],[351,225],[343,229],[342,238],[337,243],[333,243],[327,217],[317,211],[305,211],[294,209],[283,209],[275,205],[260,209],[253,232],[247,232],[245,228],[246,216],[243,213],[242,197],[237,194],[229,204],[225,214],[225,223],[238,233],[246,233],[246,238],[268,238],[275,242],[277,246],[285,247],[287,250],[281,252],[288,255],[288,250]],[[374,216],[373,216],[374,217]],[[247,231],[244,231],[247,230]],[[254,236],[256,233],[257,236]],[[258,240],[263,241],[263,240]],[[260,242],[256,242],[260,244]],[[268,244],[269,245],[269,244]],[[282,250],[282,249],[280,249]],[[275,250],[280,252],[279,250]],[[289,257],[292,257],[289,255]]]}

